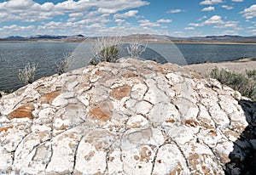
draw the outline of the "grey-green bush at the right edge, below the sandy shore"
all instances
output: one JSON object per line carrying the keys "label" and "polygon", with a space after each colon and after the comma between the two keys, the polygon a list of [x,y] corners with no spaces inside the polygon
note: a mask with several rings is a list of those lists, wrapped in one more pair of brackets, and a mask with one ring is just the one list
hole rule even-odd
{"label": "grey-green bush at the right edge, below the sandy shore", "polygon": [[214,68],[210,72],[210,77],[217,79],[230,88],[233,88],[250,99],[256,100],[256,71],[246,71],[246,74]]}

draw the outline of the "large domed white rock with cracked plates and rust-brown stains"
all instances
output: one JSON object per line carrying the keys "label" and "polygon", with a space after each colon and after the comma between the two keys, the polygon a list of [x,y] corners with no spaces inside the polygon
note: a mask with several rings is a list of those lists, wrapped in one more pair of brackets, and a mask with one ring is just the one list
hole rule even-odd
{"label": "large domed white rock with cracked plates and rust-brown stains", "polygon": [[255,110],[177,65],[87,66],[0,99],[0,172],[251,173]]}

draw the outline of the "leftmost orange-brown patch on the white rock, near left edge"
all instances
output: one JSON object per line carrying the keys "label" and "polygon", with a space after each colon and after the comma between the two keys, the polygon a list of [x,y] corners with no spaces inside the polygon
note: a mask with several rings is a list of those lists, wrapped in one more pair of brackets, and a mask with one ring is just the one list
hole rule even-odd
{"label": "leftmost orange-brown patch on the white rock, near left edge", "polygon": [[25,104],[17,108],[16,110],[12,111],[9,113],[7,116],[9,120],[14,119],[14,118],[29,118],[33,119],[34,117],[32,116],[32,111],[35,110],[35,107],[33,104]]}

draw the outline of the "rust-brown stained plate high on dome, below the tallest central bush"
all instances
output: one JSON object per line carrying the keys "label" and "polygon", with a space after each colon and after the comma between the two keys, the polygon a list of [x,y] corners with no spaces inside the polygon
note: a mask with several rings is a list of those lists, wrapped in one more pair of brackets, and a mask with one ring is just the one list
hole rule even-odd
{"label": "rust-brown stained plate high on dome, below the tallest central bush", "polygon": [[121,100],[124,97],[129,96],[130,93],[131,93],[131,87],[128,85],[124,85],[118,88],[113,88],[109,95],[113,99]]}

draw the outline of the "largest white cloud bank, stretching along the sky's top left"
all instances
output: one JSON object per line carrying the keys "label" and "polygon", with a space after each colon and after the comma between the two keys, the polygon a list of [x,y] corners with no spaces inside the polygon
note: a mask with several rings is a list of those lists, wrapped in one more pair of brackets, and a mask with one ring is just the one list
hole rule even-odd
{"label": "largest white cloud bank, stretching along the sky's top left", "polygon": [[66,0],[56,4],[39,4],[32,0],[10,0],[0,3],[1,14],[5,14],[5,18],[0,18],[0,21],[34,22],[51,20],[57,15],[65,14],[69,14],[71,18],[78,18],[77,16],[81,13],[115,14],[125,9],[139,8],[148,4],[143,0]]}

